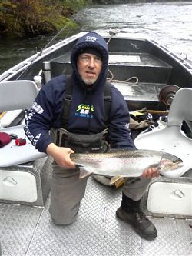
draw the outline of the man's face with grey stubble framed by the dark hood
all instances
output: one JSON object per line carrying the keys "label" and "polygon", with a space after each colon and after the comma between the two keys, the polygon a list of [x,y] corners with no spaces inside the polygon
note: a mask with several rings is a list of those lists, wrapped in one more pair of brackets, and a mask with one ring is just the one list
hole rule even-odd
{"label": "man's face with grey stubble framed by the dark hood", "polygon": [[96,55],[83,53],[78,56],[77,67],[78,73],[85,85],[92,85],[97,81],[101,72],[102,61]]}

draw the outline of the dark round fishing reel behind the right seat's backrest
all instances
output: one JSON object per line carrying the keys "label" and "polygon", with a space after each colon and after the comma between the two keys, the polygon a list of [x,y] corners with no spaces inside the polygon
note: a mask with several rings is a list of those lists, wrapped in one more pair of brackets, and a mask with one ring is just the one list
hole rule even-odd
{"label": "dark round fishing reel behind the right seat's backrest", "polygon": [[167,85],[163,89],[161,89],[159,93],[159,100],[163,102],[166,106],[170,107],[174,95],[180,89],[177,85]]}

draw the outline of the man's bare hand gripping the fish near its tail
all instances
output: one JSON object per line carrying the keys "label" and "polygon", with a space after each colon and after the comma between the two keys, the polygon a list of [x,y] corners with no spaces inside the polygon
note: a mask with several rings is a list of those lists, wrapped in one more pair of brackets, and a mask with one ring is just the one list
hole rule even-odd
{"label": "man's bare hand gripping the fish near its tail", "polygon": [[70,154],[74,153],[71,148],[58,147],[54,143],[48,145],[47,154],[54,158],[58,166],[64,168],[74,168],[75,164],[71,161]]}

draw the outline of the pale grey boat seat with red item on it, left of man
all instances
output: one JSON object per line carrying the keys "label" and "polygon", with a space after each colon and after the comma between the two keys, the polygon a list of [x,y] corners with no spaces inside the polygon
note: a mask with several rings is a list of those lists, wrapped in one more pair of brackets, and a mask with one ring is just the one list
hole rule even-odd
{"label": "pale grey boat seat with red item on it, left of man", "polygon": [[[0,82],[0,92],[0,112],[27,110],[31,108],[38,95],[38,88],[34,81],[29,80],[2,81]],[[8,135],[13,133],[18,135],[18,138],[26,139],[25,145],[18,146],[12,139],[11,142],[0,148],[0,167],[20,165],[46,156],[31,145],[31,141],[25,136],[23,125],[1,128],[0,132],[5,132]]]}

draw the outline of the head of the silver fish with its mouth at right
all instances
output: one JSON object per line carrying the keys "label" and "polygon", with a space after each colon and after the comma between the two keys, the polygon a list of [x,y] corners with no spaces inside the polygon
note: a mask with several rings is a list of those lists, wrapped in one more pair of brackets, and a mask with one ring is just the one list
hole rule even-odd
{"label": "head of the silver fish with its mouth at right", "polygon": [[183,167],[183,161],[175,155],[165,153],[161,157],[158,168],[161,171],[173,171]]}

